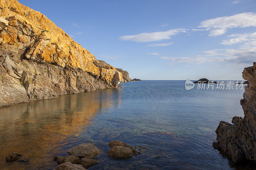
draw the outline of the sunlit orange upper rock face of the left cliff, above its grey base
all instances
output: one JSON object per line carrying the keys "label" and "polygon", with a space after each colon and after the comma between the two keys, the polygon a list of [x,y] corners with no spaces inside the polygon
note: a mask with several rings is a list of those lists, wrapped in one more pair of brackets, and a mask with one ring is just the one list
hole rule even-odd
{"label": "sunlit orange upper rock face of the left cliff, above its grey base", "polygon": [[98,60],[87,49],[40,12],[16,0],[1,0],[0,12],[0,55],[8,54],[16,63],[24,57],[63,68],[80,68],[113,87],[122,81],[120,72],[112,66],[97,67],[93,62]]}

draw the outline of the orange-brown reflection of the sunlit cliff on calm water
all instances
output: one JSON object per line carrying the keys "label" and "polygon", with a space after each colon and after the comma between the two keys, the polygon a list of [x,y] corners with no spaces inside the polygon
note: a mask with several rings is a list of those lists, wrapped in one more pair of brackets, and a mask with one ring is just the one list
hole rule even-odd
{"label": "orange-brown reflection of the sunlit cliff on calm water", "polygon": [[[121,89],[104,89],[0,108],[0,167],[38,167],[55,155],[67,154],[65,148],[79,140],[95,115],[121,102]],[[23,154],[28,165],[7,164],[5,156],[12,152]]]}

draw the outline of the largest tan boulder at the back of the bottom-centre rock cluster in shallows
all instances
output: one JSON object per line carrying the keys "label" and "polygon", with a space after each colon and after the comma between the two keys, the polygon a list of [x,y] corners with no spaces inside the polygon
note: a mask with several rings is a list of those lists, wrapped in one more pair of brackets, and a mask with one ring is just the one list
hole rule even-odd
{"label": "largest tan boulder at the back of the bottom-centre rock cluster in shallows", "polygon": [[91,142],[88,142],[86,144],[79,144],[71,149],[67,150],[69,155],[75,155],[79,158],[84,157],[94,157],[100,153],[100,149],[97,148],[94,144]]}

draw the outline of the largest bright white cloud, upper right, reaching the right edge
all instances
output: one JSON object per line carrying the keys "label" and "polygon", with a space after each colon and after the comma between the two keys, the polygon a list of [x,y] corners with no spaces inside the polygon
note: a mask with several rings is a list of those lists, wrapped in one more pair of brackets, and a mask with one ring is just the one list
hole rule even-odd
{"label": "largest bright white cloud, upper right, reaching the right edge", "polygon": [[201,22],[199,28],[206,28],[210,31],[209,36],[222,35],[229,28],[244,28],[256,26],[256,13],[244,12],[232,16],[218,17]]}

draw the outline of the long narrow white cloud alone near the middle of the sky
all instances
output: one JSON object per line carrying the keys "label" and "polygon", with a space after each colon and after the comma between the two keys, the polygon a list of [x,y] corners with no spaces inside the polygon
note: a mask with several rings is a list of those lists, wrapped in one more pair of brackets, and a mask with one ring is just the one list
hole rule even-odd
{"label": "long narrow white cloud alone near the middle of the sky", "polygon": [[125,35],[120,37],[121,40],[126,41],[137,41],[137,42],[149,42],[149,41],[159,41],[165,39],[171,39],[170,36],[176,35],[181,32],[186,32],[186,29],[172,29],[168,31],[160,31],[153,33],[140,33],[137,35]]}

